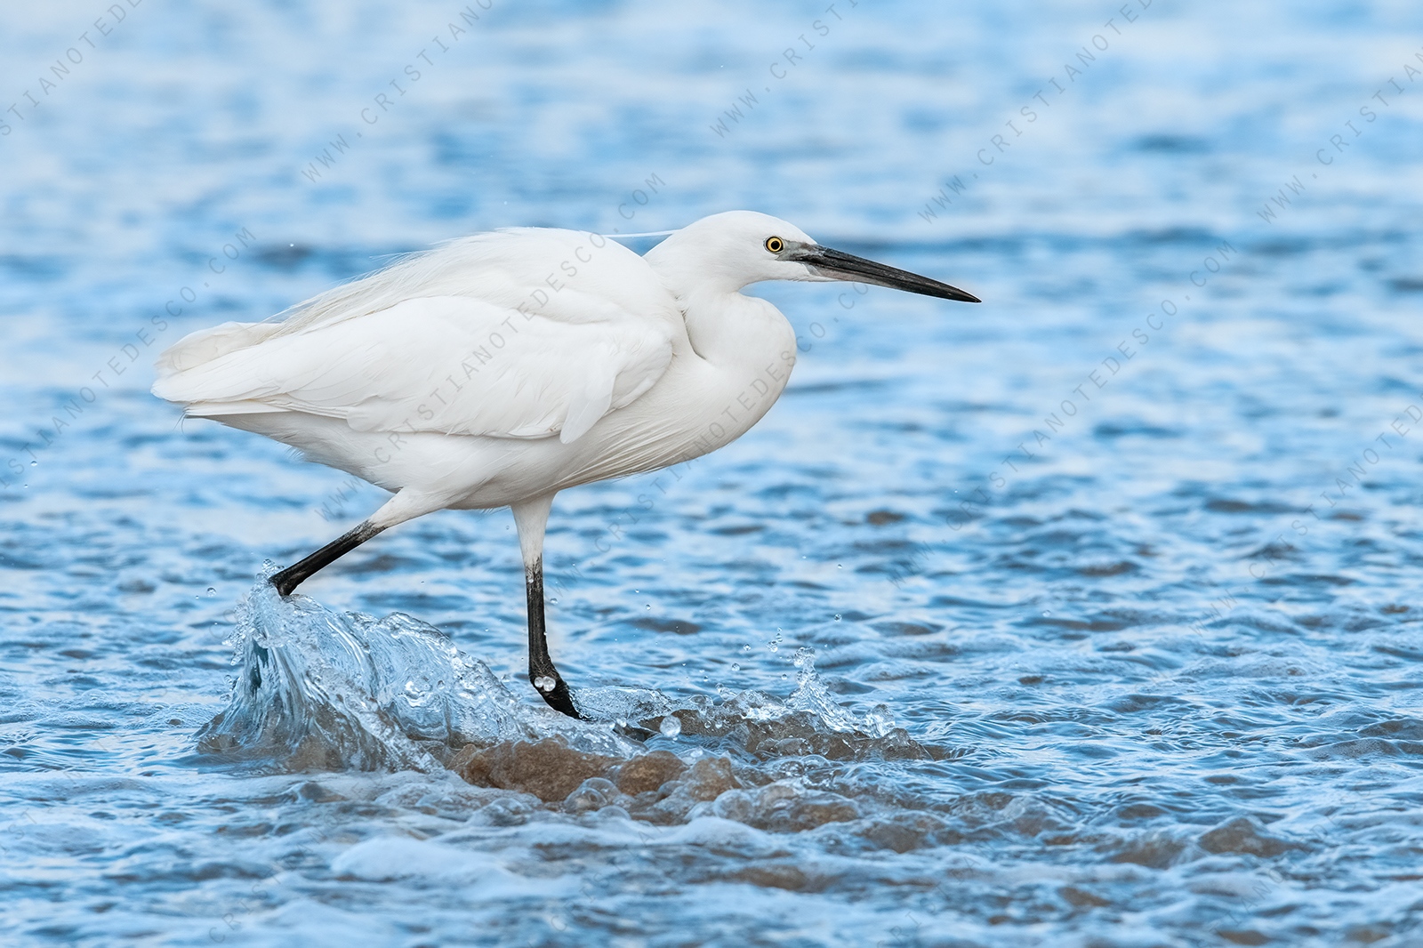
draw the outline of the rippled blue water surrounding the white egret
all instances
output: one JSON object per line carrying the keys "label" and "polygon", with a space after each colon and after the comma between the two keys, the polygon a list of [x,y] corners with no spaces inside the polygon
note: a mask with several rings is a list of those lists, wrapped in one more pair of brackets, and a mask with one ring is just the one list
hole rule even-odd
{"label": "rippled blue water surrounding the white egret", "polygon": [[[7,944],[1423,944],[1416,3],[460,9],[0,11]],[[760,288],[771,414],[559,497],[554,653],[646,732],[522,680],[507,512],[239,611],[381,494],[162,346],[743,206],[986,302]],[[612,777],[440,766],[519,736]]]}

